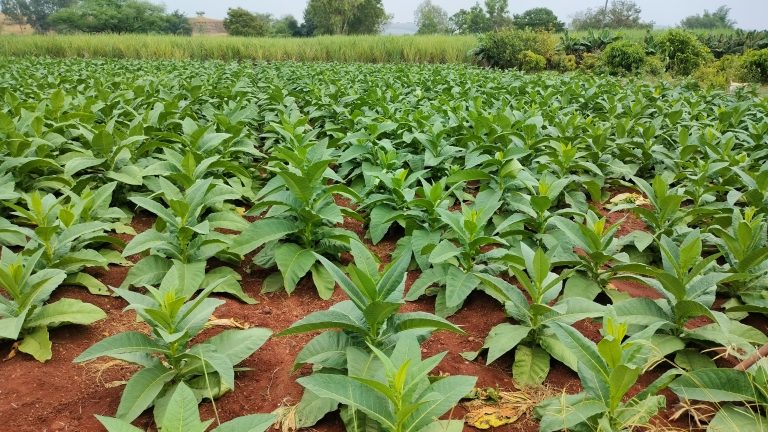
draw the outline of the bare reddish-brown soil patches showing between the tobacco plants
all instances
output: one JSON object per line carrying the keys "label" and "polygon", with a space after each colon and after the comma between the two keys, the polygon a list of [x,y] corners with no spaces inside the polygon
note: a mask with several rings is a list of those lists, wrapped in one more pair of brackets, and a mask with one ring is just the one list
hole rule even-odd
{"label": "bare reddish-brown soil patches showing between the tobacco plants", "polygon": [[[346,203],[345,203],[346,204]],[[624,218],[620,235],[625,235],[643,227],[642,222],[629,214],[612,214],[611,222]],[[146,215],[137,215],[132,223],[137,232],[148,229],[153,220]],[[364,226],[354,220],[347,220],[344,227],[364,237]],[[128,240],[130,236],[121,236]],[[397,241],[397,236],[391,233],[378,245],[366,243],[383,262],[389,260]],[[131,257],[136,261],[138,257]],[[246,260],[247,262],[247,260]],[[105,284],[119,286],[126,276],[128,269],[111,266],[108,270],[95,270],[92,274]],[[243,289],[259,301],[256,305],[246,305],[236,300],[226,298],[226,303],[216,310],[215,316],[220,319],[233,319],[248,326],[268,327],[275,333],[289,327],[293,322],[307,314],[327,309],[332,304],[345,300],[344,294],[337,289],[329,301],[323,301],[317,296],[311,280],[303,280],[292,295],[285,293],[259,294],[262,282],[268,272],[246,272],[244,267],[238,269],[243,276]],[[417,272],[411,272],[407,279],[409,287],[418,277]],[[658,294],[647,286],[638,283],[616,282],[617,289],[633,296],[658,297]],[[117,410],[123,382],[135,371],[135,368],[120,362],[109,362],[99,359],[85,365],[77,365],[72,360],[90,345],[99,340],[128,330],[148,332],[146,325],[136,322],[133,312],[123,312],[126,303],[116,297],[99,297],[90,295],[86,290],[74,287],[61,287],[54,299],[62,297],[77,298],[91,302],[104,309],[108,317],[85,326],[68,326],[55,329],[51,333],[53,343],[53,358],[46,363],[38,363],[31,357],[19,353],[15,357],[0,362],[3,382],[0,385],[0,418],[3,426],[0,430],[17,432],[40,431],[100,431],[103,430],[94,415],[112,416]],[[433,311],[433,299],[422,298],[417,302],[403,306],[403,311]],[[465,374],[478,377],[478,387],[494,387],[514,390],[511,379],[512,356],[506,355],[497,362],[486,366],[481,356],[470,362],[461,357],[462,352],[476,351],[483,345],[483,340],[491,328],[505,322],[503,308],[493,299],[483,293],[473,293],[463,309],[452,316],[451,321],[461,326],[467,335],[460,336],[447,332],[437,332],[422,345],[425,356],[448,351],[448,355],[438,366],[436,372],[442,374]],[[751,325],[766,331],[768,325],[763,317],[751,319]],[[575,324],[575,327],[591,340],[599,340],[600,325],[598,322],[585,320]],[[206,330],[204,337],[222,331],[214,327]],[[259,412],[271,412],[281,406],[296,404],[302,394],[302,387],[295,380],[302,374],[309,373],[308,369],[292,373],[292,364],[302,346],[314,335],[299,335],[270,339],[261,349],[248,358],[241,366],[248,371],[239,372],[236,376],[236,388],[221,397],[216,402],[216,411],[211,403],[200,406],[204,419],[218,418],[224,422],[232,418]],[[11,343],[0,344],[0,355],[5,357],[11,349]],[[663,366],[663,365],[662,365]],[[640,391],[656,379],[664,371],[663,367],[646,373],[635,385],[632,392]],[[581,390],[578,376],[562,364],[553,361],[552,370],[545,385],[553,392],[575,393]],[[674,411],[677,398],[671,392],[664,392],[667,397],[667,409],[653,420],[656,430],[665,427],[675,427],[675,430],[692,430],[685,417],[670,424],[666,419]],[[462,418],[465,410],[457,407],[449,416]],[[151,415],[145,413],[136,425],[154,430]],[[344,427],[337,414],[324,418],[312,430],[320,432],[343,431]],[[474,431],[465,426],[466,431]],[[530,415],[524,415],[511,425],[496,428],[501,432],[536,431],[538,425]],[[672,430],[672,429],[669,429]]]}

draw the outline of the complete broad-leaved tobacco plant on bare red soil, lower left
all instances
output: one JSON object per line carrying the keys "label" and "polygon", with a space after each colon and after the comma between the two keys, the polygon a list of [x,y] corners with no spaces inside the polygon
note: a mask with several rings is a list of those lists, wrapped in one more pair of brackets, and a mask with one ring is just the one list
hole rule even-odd
{"label": "complete broad-leaved tobacco plant on bare red soil, lower left", "polygon": [[214,310],[224,303],[209,295],[226,279],[206,280],[204,266],[176,262],[159,287],[147,287],[147,294],[115,289],[128,302],[126,309],[135,311],[151,333],[110,336],[74,361],[112,357],[141,367],[123,390],[117,418],[131,422],[152,406],[155,412],[163,410],[171,389],[182,382],[194,391],[197,402],[235,388],[235,366],[259,349],[271,332],[254,327],[199,337]]}

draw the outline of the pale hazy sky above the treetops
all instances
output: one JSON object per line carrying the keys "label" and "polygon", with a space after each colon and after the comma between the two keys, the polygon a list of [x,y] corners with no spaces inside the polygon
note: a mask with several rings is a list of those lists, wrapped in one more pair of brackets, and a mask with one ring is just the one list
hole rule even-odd
{"label": "pale hazy sky above the treetops", "polygon": [[[383,0],[384,9],[394,15],[393,22],[413,22],[413,11],[420,0]],[[654,21],[657,26],[677,25],[688,15],[699,14],[704,9],[715,10],[720,5],[731,8],[731,17],[744,29],[768,29],[768,0],[635,0],[643,10],[644,21]],[[293,15],[301,21],[306,0],[153,0],[170,9],[179,9],[188,16],[205,11],[210,18],[224,18],[230,7],[242,7],[253,12],[270,13],[280,17]],[[459,9],[468,9],[476,0],[432,0],[449,14]],[[481,0],[482,3],[482,0]],[[579,10],[602,5],[601,0],[510,0],[511,13],[520,13],[533,7],[548,7],[561,20],[570,22],[570,17]]]}

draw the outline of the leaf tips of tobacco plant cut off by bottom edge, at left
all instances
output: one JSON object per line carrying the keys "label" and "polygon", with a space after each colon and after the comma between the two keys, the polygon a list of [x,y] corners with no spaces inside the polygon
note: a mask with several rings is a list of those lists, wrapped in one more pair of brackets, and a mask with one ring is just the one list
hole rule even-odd
{"label": "leaf tips of tobacco plant cut off by bottom edge, at left", "polygon": [[[143,432],[130,422],[114,417],[97,415],[96,418],[107,432]],[[211,432],[265,432],[275,422],[272,414],[251,414],[221,423]],[[184,383],[179,383],[171,392],[168,406],[162,415],[155,416],[158,432],[206,432],[213,420],[200,421],[195,393]]]}

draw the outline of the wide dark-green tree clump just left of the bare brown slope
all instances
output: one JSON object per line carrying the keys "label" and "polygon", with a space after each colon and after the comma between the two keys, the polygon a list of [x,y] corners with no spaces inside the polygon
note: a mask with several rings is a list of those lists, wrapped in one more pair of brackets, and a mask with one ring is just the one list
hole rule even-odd
{"label": "wide dark-green tree clump just left of the bare brown slope", "polygon": [[48,23],[58,32],[169,33],[191,35],[183,14],[143,0],[79,0],[56,11]]}

